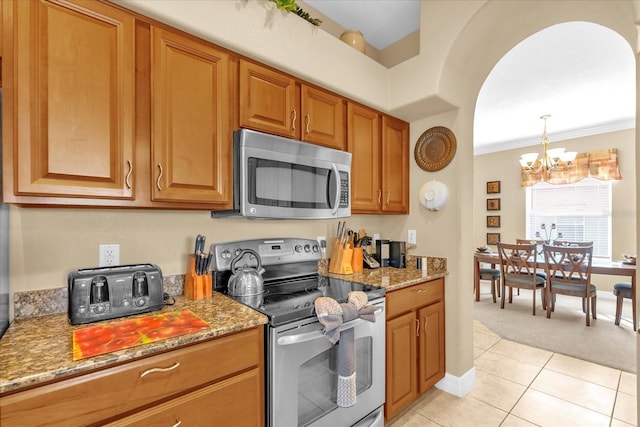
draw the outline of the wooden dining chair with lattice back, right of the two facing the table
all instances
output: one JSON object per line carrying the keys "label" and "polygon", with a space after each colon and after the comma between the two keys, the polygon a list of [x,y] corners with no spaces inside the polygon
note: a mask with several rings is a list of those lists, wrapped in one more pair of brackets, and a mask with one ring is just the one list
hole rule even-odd
{"label": "wooden dining chair with lattice back, right of the two facing the table", "polygon": [[597,288],[591,283],[593,246],[544,245],[547,273],[547,318],[555,310],[556,295],[582,298],[582,311],[590,326],[590,315],[596,318]]}

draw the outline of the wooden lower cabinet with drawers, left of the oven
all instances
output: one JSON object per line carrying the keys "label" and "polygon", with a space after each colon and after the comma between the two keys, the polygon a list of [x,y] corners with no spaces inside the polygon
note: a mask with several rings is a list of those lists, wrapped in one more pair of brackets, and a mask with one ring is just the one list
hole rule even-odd
{"label": "wooden lower cabinet with drawers, left of the oven", "polygon": [[262,426],[263,345],[255,327],[0,396],[0,425]]}

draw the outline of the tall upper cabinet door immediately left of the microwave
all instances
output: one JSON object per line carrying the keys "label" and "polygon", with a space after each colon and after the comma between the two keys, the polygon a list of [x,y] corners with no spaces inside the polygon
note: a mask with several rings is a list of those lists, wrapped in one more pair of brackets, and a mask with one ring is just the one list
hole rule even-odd
{"label": "tall upper cabinet door immediately left of the microwave", "polygon": [[231,199],[228,55],[151,28],[153,200]]}

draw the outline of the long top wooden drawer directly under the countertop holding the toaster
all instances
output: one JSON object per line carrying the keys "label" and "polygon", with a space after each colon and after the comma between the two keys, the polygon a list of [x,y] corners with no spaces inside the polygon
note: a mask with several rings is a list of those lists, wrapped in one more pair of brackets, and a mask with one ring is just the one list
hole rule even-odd
{"label": "long top wooden drawer directly under the countertop holding the toaster", "polygon": [[192,391],[260,366],[262,337],[254,328],[0,398],[0,425],[88,425]]}

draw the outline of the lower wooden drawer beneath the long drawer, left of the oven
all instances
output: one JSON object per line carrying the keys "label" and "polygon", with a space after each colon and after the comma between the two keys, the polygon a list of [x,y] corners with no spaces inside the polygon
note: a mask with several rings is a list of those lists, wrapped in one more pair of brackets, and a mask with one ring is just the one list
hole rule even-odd
{"label": "lower wooden drawer beneath the long drawer, left of the oven", "polygon": [[262,390],[262,371],[253,369],[105,427],[262,426]]}

